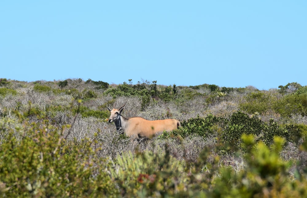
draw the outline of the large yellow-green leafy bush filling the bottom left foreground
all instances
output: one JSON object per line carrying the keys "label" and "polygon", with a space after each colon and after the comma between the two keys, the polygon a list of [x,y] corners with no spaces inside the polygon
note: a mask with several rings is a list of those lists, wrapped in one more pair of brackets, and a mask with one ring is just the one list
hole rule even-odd
{"label": "large yellow-green leafy bush filling the bottom left foreground", "polygon": [[17,131],[23,134],[21,141],[9,133],[0,147],[0,195],[116,196],[119,192],[101,166],[108,166],[108,162],[96,155],[89,140],[80,145],[67,143],[63,135],[69,128],[67,125],[59,131],[47,120],[23,121],[23,128]]}

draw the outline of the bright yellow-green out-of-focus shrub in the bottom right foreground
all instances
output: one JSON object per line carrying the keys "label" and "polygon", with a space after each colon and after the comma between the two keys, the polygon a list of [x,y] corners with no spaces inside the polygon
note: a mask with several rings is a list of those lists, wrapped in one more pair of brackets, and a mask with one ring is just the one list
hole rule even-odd
{"label": "bright yellow-green out-of-focus shrub in the bottom right foreground", "polygon": [[285,162],[279,156],[283,144],[284,140],[276,137],[270,149],[262,142],[255,145],[252,135],[243,135],[245,168],[235,172],[231,167],[221,167],[220,177],[212,182],[210,197],[296,197],[299,192],[288,172],[293,162]]}

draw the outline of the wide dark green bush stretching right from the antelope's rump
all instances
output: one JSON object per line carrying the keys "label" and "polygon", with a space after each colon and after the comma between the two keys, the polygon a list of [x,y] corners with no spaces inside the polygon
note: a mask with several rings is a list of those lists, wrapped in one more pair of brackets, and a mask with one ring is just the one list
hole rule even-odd
{"label": "wide dark green bush stretching right from the antelope's rump", "polygon": [[[205,118],[197,116],[181,123],[181,128],[171,133],[163,133],[160,139],[169,138],[172,135],[187,137],[199,135],[204,139],[217,138],[223,145],[231,145],[234,149],[240,147],[243,134],[254,135],[257,141],[271,145],[274,136],[280,136],[287,142],[298,143],[298,140],[307,133],[304,124],[283,124],[280,125],[271,119],[268,123],[258,119],[257,116],[248,116],[243,112],[235,112],[229,119],[208,115]],[[231,148],[232,148],[231,147]],[[225,149],[225,148],[223,148]]]}

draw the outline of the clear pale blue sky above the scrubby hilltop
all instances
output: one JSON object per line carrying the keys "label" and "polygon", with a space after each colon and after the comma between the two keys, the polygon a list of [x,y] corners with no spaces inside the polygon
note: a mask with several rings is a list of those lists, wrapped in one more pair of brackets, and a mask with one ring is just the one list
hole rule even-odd
{"label": "clear pale blue sky above the scrubby hilltop", "polygon": [[307,1],[0,2],[0,78],[307,85]]}

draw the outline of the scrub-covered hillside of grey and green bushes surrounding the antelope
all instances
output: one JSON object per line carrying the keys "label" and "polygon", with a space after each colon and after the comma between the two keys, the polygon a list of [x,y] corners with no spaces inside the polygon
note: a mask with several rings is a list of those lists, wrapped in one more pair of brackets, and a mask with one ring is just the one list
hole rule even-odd
{"label": "scrub-covered hillside of grey and green bushes surrounding the antelope", "polygon": [[[0,79],[2,197],[306,197],[307,86]],[[174,118],[140,141],[107,123]]]}

